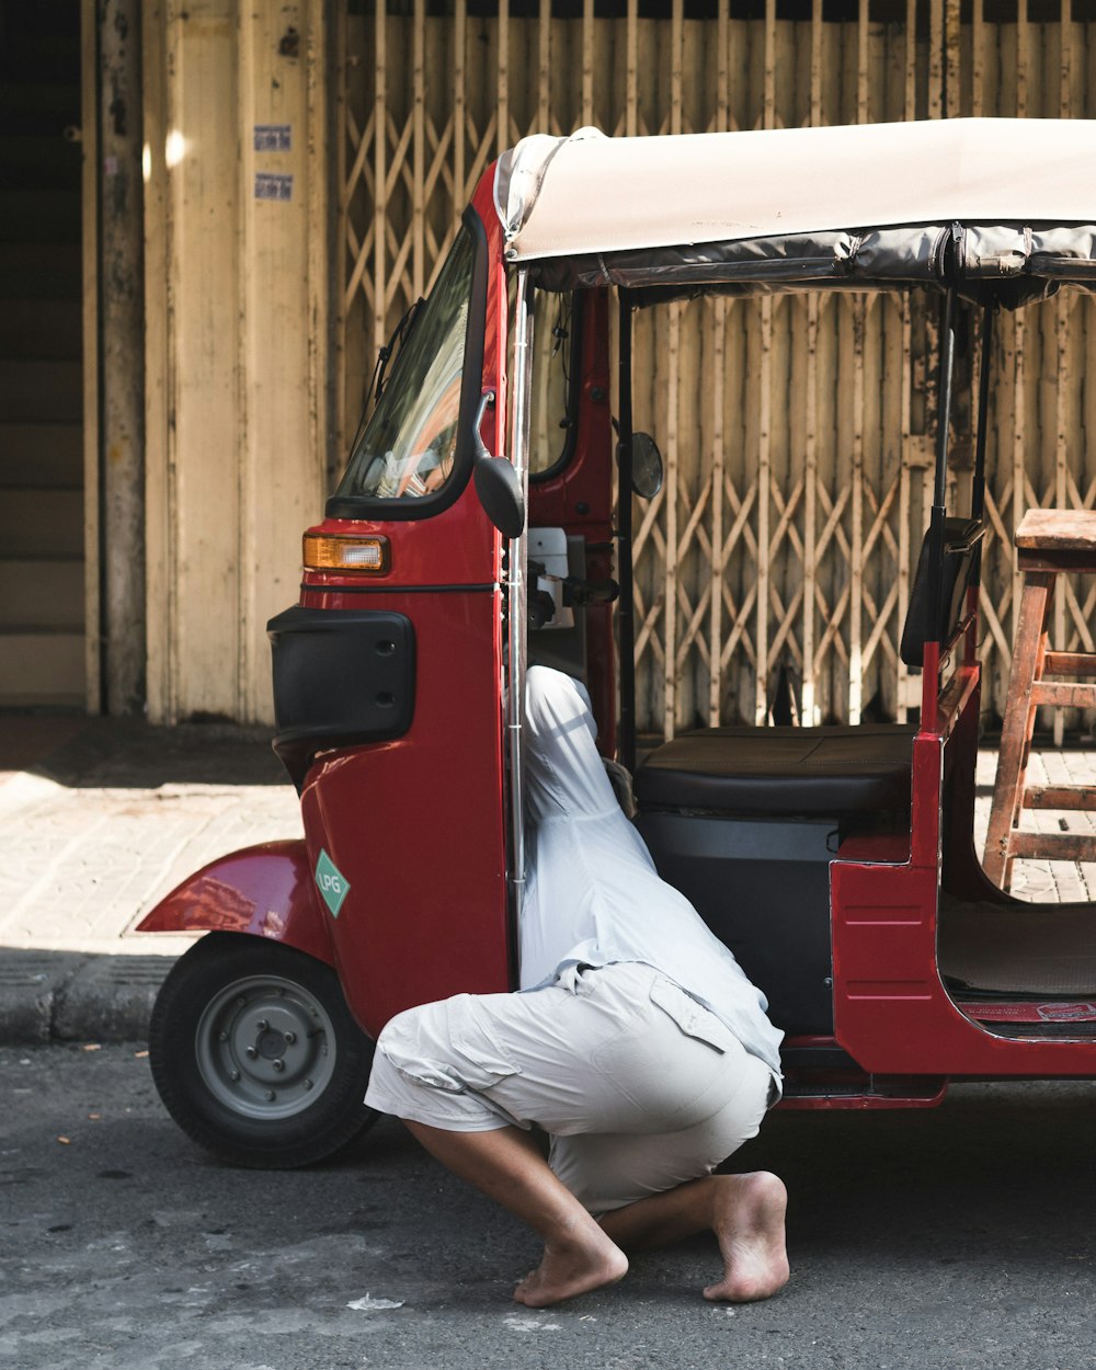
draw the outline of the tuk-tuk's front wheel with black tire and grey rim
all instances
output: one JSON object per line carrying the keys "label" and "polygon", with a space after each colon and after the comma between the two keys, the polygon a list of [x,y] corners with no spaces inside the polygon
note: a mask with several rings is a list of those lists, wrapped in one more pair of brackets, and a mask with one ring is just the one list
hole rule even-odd
{"label": "tuk-tuk's front wheel with black tire and grey rim", "polygon": [[377,1118],[373,1041],[338,977],[279,943],[207,933],[160,988],[148,1055],[179,1128],[233,1164],[314,1164]]}

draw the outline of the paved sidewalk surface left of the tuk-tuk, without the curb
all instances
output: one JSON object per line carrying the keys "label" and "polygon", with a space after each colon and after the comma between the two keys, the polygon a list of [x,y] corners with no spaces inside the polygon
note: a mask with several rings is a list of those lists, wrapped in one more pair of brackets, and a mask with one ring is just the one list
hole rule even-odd
{"label": "paved sidewalk surface left of the tuk-tuk, without the curb", "polygon": [[0,785],[0,947],[178,954],[193,938],[134,933],[148,908],[215,856],[300,836],[264,738],[190,730],[169,747],[164,732],[122,733],[75,774],[45,763]]}

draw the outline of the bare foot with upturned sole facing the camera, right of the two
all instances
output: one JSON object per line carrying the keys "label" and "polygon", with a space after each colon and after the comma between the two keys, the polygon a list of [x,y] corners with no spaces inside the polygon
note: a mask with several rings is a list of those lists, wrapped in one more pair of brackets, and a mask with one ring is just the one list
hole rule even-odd
{"label": "bare foot with upturned sole facing the camera, right of the two", "polygon": [[719,1238],[723,1278],[704,1291],[706,1299],[749,1303],[769,1299],[788,1284],[784,1215],[788,1191],[767,1170],[747,1175],[717,1175],[712,1230]]}

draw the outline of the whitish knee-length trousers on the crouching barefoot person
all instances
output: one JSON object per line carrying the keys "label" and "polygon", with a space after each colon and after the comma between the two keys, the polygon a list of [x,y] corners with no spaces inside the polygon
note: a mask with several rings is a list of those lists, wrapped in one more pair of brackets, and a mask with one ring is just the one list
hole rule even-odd
{"label": "whitish knee-length trousers on the crouching barefoot person", "polygon": [[379,1036],[366,1103],[449,1132],[537,1123],[549,1164],[595,1214],[711,1171],[777,1096],[773,1071],[651,966],[570,986],[456,995]]}

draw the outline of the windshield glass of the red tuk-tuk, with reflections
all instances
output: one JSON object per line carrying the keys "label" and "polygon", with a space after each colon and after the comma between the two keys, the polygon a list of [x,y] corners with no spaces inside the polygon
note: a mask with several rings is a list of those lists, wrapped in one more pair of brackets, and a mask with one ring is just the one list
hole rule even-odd
{"label": "windshield glass of the red tuk-tuk, with reflections", "polygon": [[462,227],[336,499],[421,499],[452,478],[475,248]]}

